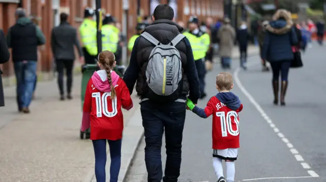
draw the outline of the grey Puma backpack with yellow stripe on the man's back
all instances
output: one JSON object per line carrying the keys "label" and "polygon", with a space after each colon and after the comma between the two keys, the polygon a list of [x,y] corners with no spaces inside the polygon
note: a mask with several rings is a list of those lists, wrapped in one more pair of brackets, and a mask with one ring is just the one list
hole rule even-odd
{"label": "grey Puma backpack with yellow stripe on the man's back", "polygon": [[155,102],[177,100],[182,93],[182,62],[175,46],[185,37],[178,34],[170,44],[164,45],[148,32],[141,34],[155,47],[151,51],[146,68],[147,97]]}

